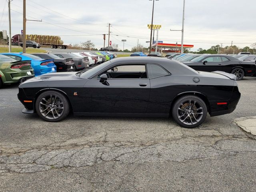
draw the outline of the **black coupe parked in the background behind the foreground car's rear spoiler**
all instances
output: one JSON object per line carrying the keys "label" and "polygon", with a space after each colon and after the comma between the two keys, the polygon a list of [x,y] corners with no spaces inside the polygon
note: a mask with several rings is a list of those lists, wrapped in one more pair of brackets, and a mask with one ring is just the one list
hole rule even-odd
{"label": "black coupe parked in the background behind the foreground car's rear spoiler", "polygon": [[202,55],[183,63],[199,71],[231,73],[236,76],[236,80],[242,80],[244,76],[253,76],[256,73],[254,62],[241,61],[229,55]]}

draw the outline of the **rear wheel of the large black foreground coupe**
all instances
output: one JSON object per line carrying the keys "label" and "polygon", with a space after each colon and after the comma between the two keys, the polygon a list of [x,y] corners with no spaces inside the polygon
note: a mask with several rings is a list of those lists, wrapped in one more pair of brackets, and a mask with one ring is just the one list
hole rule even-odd
{"label": "rear wheel of the large black foreground coupe", "polygon": [[173,105],[172,117],[182,127],[195,128],[202,124],[207,116],[205,102],[194,95],[179,98]]}

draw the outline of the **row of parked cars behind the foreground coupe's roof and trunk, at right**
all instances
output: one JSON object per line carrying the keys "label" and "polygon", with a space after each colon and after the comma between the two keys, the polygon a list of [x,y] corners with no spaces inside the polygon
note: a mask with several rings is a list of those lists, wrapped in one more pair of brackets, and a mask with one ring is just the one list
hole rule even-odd
{"label": "row of parked cars behind the foreground coupe's roof and trunk, at right", "polygon": [[[151,52],[148,55],[143,52],[134,52],[130,56],[164,57],[159,52]],[[182,62],[198,71],[231,73],[236,75],[236,80],[242,80],[244,76],[254,76],[256,74],[256,55],[249,52],[230,55],[167,53],[165,57]]]}

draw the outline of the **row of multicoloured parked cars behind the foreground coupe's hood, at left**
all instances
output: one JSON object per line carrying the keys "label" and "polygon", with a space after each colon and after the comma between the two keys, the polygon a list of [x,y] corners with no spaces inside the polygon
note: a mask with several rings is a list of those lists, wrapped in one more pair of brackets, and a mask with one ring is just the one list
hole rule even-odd
{"label": "row of multicoloured parked cars behind the foreground coupe's hood, at left", "polygon": [[0,87],[3,84],[21,83],[46,73],[84,70],[116,56],[110,52],[1,53]]}

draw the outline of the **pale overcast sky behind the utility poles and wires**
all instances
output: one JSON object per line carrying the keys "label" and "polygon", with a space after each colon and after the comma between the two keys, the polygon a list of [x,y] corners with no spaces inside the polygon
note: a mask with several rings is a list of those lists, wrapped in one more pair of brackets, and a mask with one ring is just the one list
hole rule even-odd
{"label": "pale overcast sky behind the utility poles and wires", "polygon": [[[22,29],[23,0],[11,2],[12,35]],[[0,30],[8,30],[8,5],[0,0]],[[154,24],[162,25],[159,40],[180,43],[183,0],[155,1]],[[256,42],[255,0],[186,0],[184,44],[198,48],[223,46],[250,46]],[[56,12],[55,12],[56,11]],[[65,44],[91,40],[96,48],[103,47],[102,34],[123,48],[131,49],[139,43],[147,46],[151,23],[150,0],[26,0],[27,34],[58,35]],[[129,36],[129,37],[127,37]],[[156,39],[156,34],[155,34]],[[107,40],[106,40],[107,44]]]}

